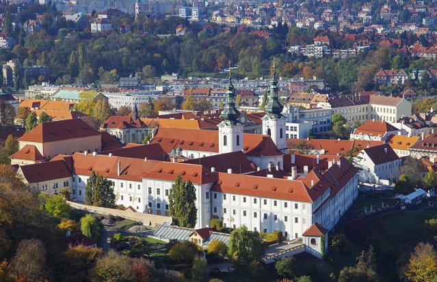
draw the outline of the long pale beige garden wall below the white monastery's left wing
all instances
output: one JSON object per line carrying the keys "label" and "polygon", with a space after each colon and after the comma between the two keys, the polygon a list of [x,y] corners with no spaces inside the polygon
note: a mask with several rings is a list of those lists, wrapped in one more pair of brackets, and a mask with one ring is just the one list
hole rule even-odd
{"label": "long pale beige garden wall below the white monastery's left wing", "polygon": [[96,214],[105,214],[112,216],[120,216],[122,218],[130,219],[131,221],[139,221],[143,225],[159,226],[162,223],[172,223],[170,216],[161,216],[156,214],[144,214],[142,212],[133,212],[132,210],[116,210],[114,208],[101,208],[94,206],[87,206],[83,203],[76,203],[74,201],[67,201],[68,205],[78,210],[86,210],[87,212],[94,212]]}

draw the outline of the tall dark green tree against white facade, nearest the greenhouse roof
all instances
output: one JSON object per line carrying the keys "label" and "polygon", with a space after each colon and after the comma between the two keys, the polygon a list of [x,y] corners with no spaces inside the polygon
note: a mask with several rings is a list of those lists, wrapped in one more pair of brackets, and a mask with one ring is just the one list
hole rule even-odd
{"label": "tall dark green tree against white facade, nearest the greenhouse roof", "polygon": [[168,206],[178,226],[192,228],[196,225],[196,188],[190,181],[184,182],[181,175],[174,180]]}

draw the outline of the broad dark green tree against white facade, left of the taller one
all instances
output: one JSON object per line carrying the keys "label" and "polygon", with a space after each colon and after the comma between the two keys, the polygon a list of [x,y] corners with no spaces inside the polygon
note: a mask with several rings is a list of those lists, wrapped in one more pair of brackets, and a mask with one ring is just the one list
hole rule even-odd
{"label": "broad dark green tree against white facade, left of the taller one", "polygon": [[93,171],[85,187],[85,203],[90,206],[113,208],[116,195],[109,180]]}

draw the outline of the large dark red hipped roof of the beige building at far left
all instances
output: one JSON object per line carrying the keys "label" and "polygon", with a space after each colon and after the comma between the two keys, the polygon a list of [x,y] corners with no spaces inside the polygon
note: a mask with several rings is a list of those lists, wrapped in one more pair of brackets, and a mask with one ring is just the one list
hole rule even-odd
{"label": "large dark red hipped roof of the beige building at far left", "polygon": [[96,135],[101,135],[101,132],[83,122],[82,119],[66,119],[44,122],[18,138],[18,141],[43,143]]}

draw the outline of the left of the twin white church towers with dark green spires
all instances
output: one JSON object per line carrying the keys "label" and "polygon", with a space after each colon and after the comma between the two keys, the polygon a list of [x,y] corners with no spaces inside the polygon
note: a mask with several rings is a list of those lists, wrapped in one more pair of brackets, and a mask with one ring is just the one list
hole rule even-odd
{"label": "left of the twin white church towers with dark green spires", "polygon": [[223,122],[219,128],[219,154],[241,151],[243,148],[243,126],[239,122],[240,113],[235,109],[235,89],[229,74],[226,104],[222,110]]}

